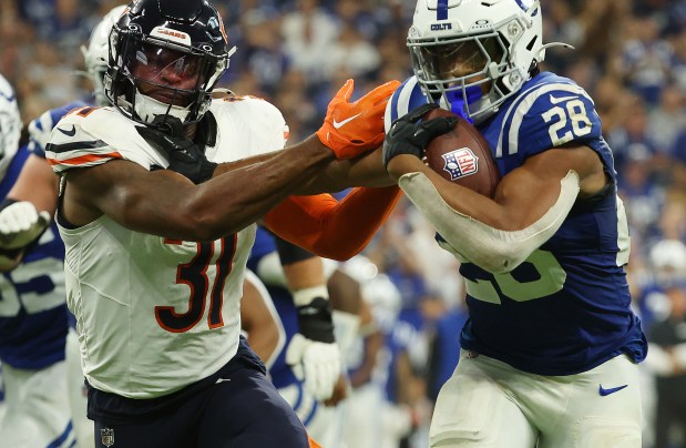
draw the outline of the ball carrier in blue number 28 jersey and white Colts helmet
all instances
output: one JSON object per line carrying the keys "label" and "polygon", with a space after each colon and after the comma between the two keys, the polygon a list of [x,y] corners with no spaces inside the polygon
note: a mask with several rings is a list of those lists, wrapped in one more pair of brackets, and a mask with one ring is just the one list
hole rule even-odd
{"label": "ball carrier in blue number 28 jersey and white Colts helmet", "polygon": [[[387,170],[467,283],[470,318],[432,447],[641,447],[636,364],[647,345],[629,309],[612,152],[587,93],[541,71],[551,45],[541,23],[539,1],[419,0],[414,77],[389,101]],[[491,144],[494,200],[421,162],[430,136],[454,123],[419,122],[427,102]]]}

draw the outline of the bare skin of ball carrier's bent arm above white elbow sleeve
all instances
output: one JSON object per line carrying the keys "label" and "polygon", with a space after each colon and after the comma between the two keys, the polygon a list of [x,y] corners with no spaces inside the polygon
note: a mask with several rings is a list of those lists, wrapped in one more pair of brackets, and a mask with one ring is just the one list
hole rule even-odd
{"label": "bare skin of ball carrier's bent arm above white elbow sleeve", "polygon": [[569,171],[579,174],[580,197],[597,193],[608,182],[597,154],[579,145],[551,149],[529,157],[503,176],[493,200],[444,180],[412,155],[398,155],[388,164],[395,180],[407,173],[424,173],[452,208],[503,231],[520,231],[541,218],[557,201],[560,181]]}

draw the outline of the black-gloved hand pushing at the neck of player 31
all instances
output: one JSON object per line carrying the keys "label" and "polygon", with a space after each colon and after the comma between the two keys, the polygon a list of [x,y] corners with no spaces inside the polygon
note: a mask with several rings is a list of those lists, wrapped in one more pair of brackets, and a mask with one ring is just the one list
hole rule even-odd
{"label": "black-gloved hand pushing at the neck of player 31", "polygon": [[186,136],[181,120],[175,116],[156,118],[152,124],[137,126],[136,130],[149,143],[166,153],[170,161],[167,170],[183,174],[194,184],[212,179],[217,164],[209,162],[205,152]]}

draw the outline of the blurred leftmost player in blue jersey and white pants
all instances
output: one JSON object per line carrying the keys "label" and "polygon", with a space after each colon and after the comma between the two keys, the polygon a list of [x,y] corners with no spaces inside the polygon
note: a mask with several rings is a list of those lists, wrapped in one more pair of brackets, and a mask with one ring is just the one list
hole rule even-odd
{"label": "blurred leftmost player in blue jersey and white pants", "polygon": [[[14,92],[0,77],[3,211],[30,208],[7,198],[29,157],[27,147],[19,147],[21,126]],[[47,213],[35,214],[32,236],[14,238],[22,223],[7,214],[0,217],[0,362],[6,407],[0,421],[2,448],[69,447],[74,441],[64,362],[64,247],[57,228],[47,227],[49,222]]]}

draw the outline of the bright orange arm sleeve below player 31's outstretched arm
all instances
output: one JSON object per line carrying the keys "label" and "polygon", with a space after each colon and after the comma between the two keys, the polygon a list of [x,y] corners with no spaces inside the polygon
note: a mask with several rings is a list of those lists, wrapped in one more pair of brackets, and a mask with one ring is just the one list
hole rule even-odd
{"label": "bright orange arm sleeve below player 31's outstretched arm", "polygon": [[340,202],[329,194],[289,196],[267,213],[265,223],[306,251],[345,261],[365,248],[399,198],[397,186],[357,187]]}

